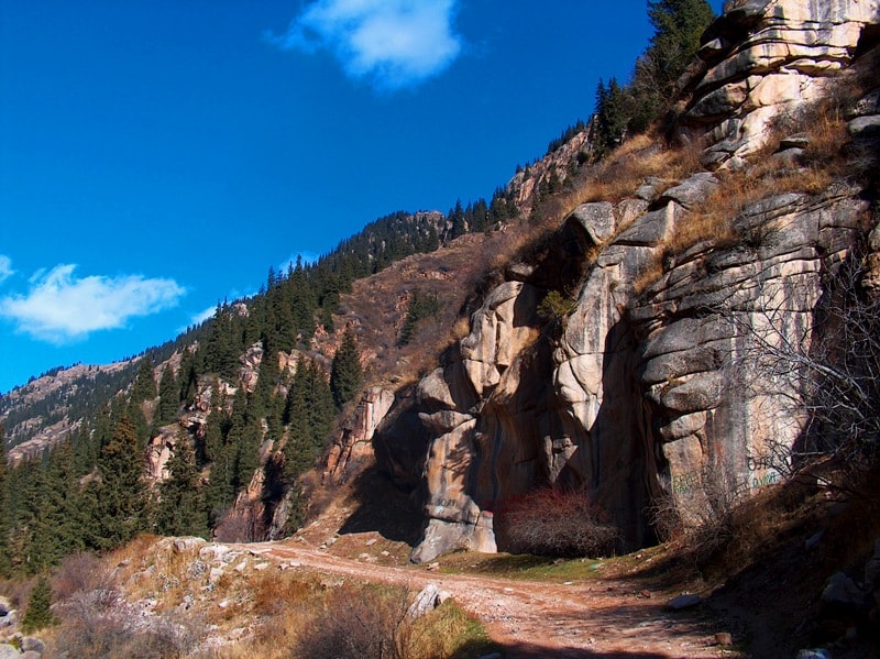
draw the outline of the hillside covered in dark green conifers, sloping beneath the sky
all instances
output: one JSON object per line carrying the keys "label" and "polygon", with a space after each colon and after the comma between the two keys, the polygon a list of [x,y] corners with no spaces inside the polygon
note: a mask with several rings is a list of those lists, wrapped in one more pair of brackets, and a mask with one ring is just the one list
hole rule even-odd
{"label": "hillside covered in dark green conifers, sloping beneath the sky", "polygon": [[[213,318],[174,341],[112,366],[53,370],[0,398],[13,458],[2,475],[3,572],[38,573],[72,551],[106,550],[147,530],[253,540],[296,528],[306,509],[299,476],[349,422],[370,365],[360,355],[384,350],[359,344],[360,320],[338,327],[349,318],[342,297],[408,256],[469,233],[503,234],[495,261],[463,252],[477,279],[469,281],[477,287],[471,308],[498,259],[540,251],[529,243],[558,200],[625,138],[663,120],[713,18],[702,0],[650,2],[649,15],[656,35],[632,80],[601,84],[595,117],[563,131],[490,201],[380,218],[315,263],[270,267],[257,295],[219,301]],[[410,354],[417,328],[447,300],[427,288],[398,295],[392,343]],[[433,358],[449,337],[430,336],[419,349]],[[278,519],[285,528],[273,527]]]}

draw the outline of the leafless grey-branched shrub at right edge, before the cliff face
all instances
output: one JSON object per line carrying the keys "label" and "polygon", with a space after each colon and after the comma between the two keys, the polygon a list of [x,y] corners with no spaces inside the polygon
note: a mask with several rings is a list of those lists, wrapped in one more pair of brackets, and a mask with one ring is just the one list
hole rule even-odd
{"label": "leafless grey-branched shrub at right edge, before the cliff face", "polygon": [[[784,475],[828,455],[858,471],[877,462],[880,297],[862,287],[864,267],[854,254],[826,272],[815,293],[790,281],[761,292],[774,304],[750,314],[722,310],[746,339],[734,364],[745,376],[740,384],[754,397],[780,402],[776,414],[802,426],[793,446],[769,447],[773,469]],[[814,297],[812,323],[788,319]]]}

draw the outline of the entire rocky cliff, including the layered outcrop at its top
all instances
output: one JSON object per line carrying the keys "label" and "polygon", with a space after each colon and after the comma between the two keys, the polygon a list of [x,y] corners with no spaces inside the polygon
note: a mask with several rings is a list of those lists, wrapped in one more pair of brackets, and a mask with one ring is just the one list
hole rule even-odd
{"label": "entire rocky cliff, including the layered outcrop at its top", "polygon": [[[877,1],[728,2],[681,81],[691,96],[678,133],[707,140],[710,169],[749,176],[750,154],[776,158],[763,194],[705,235],[694,227],[736,194],[707,171],[578,207],[536,256],[506,270],[469,336],[414,392],[394,405],[371,393],[365,436],[380,466],[424,492],[414,560],[494,550],[495,505],[543,484],[586,491],[630,548],[653,537],[651,504],[702,496],[710,468],[738,490],[778,479],[770,455],[801,437],[804,419],[789,407],[796,383],[749,386],[761,377],[750,332],[771,322],[777,340],[798,345],[821,333],[828,274],[877,218],[864,178],[809,179],[798,158],[812,138],[771,129],[832,89],[858,88],[848,75],[864,94],[878,24]],[[878,119],[868,91],[848,105],[862,157],[876,153],[865,145]],[[803,129],[794,119],[785,127]],[[776,183],[789,174],[803,185]],[[570,299],[564,314],[548,317],[550,292]]]}

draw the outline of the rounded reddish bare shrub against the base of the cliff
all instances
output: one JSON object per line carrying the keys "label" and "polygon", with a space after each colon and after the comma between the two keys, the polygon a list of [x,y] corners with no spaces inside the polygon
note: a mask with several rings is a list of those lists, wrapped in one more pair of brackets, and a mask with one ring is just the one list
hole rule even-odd
{"label": "rounded reddish bare shrub against the base of the cliff", "polygon": [[583,492],[544,487],[504,502],[495,512],[498,545],[515,553],[608,556],[620,531]]}

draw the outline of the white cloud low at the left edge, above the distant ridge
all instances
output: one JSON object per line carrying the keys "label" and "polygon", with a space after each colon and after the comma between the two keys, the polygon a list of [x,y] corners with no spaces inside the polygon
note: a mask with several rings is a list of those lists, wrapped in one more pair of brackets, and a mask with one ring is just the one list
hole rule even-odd
{"label": "white cloud low at the left edge, above the distant ridge", "polygon": [[174,307],[186,293],[173,279],[141,275],[77,278],[75,268],[62,264],[38,272],[31,277],[26,295],[0,299],[0,316],[13,320],[21,332],[64,343]]}

